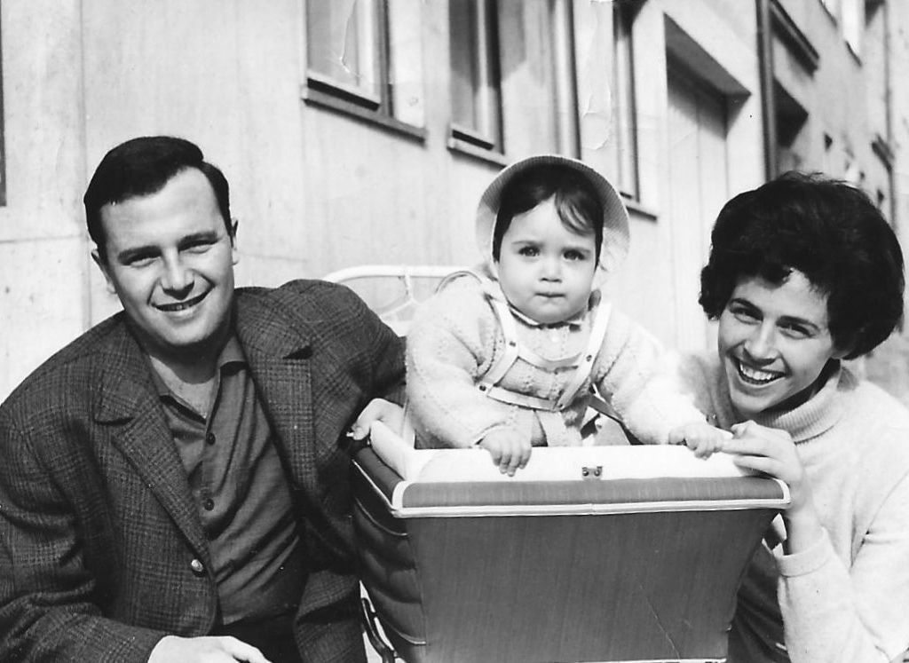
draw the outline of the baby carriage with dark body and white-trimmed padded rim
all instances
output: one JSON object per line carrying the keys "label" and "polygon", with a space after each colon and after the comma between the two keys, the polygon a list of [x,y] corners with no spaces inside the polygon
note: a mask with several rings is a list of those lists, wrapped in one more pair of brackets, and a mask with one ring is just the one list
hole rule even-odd
{"label": "baby carriage with dark body and white-trimmed padded rim", "polygon": [[381,424],[352,477],[387,662],[723,661],[739,580],[789,501],[722,454],[539,447],[504,477],[483,450]]}

